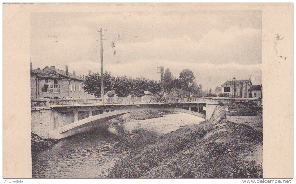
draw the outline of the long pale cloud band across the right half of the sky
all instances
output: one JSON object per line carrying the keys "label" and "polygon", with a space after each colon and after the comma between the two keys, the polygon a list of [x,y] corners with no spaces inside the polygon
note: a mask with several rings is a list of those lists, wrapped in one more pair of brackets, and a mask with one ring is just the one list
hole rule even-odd
{"label": "long pale cloud band across the right half of the sky", "polygon": [[146,42],[115,43],[119,57],[128,60],[179,59],[182,62],[241,64],[261,63],[261,31],[231,27],[225,31],[211,30],[199,40],[189,35],[178,38],[155,38]]}

